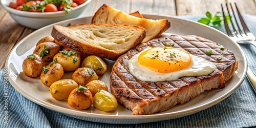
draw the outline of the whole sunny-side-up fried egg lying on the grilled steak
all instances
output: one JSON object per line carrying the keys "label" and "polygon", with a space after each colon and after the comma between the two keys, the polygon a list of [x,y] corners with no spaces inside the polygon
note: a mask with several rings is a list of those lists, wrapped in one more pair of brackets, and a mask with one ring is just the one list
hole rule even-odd
{"label": "whole sunny-side-up fried egg lying on the grilled steak", "polygon": [[146,48],[129,60],[130,73],[141,81],[170,81],[203,76],[217,67],[202,57],[172,47]]}

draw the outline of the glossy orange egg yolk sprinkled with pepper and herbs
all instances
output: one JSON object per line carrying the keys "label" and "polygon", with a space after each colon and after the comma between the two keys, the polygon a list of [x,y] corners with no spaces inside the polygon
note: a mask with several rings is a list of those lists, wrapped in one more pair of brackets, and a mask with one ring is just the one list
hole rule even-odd
{"label": "glossy orange egg yolk sprinkled with pepper and herbs", "polygon": [[171,47],[155,47],[142,52],[139,65],[154,72],[169,73],[189,68],[192,58],[187,53]]}

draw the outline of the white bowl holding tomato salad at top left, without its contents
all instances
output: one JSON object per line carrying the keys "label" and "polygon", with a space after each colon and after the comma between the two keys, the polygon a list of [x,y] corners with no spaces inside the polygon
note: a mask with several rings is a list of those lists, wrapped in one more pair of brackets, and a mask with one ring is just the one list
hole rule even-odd
{"label": "white bowl holding tomato salad at top left, without its contents", "polygon": [[39,29],[52,23],[59,22],[61,20],[75,18],[79,16],[87,7],[87,5],[91,2],[91,0],[87,0],[83,4],[73,8],[69,11],[68,14],[66,14],[65,11],[44,13],[20,11],[10,8],[8,6],[11,1],[14,2],[15,0],[1,0],[1,5],[10,13],[10,15],[18,24],[31,29]]}

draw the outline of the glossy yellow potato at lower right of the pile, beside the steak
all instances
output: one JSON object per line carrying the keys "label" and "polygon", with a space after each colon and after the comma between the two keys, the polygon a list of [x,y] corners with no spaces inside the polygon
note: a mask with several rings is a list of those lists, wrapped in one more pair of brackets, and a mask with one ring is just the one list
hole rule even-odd
{"label": "glossy yellow potato at lower right of the pile, beside the steak", "polygon": [[92,104],[94,108],[104,112],[113,111],[118,105],[116,97],[104,90],[99,90],[99,92],[95,94]]}

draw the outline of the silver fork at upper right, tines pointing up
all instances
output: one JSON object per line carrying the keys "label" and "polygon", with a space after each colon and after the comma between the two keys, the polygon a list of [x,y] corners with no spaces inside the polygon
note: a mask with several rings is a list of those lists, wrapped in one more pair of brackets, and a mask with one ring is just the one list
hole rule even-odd
{"label": "silver fork at upper right, tines pointing up", "polygon": [[[232,11],[232,14],[233,14],[233,17],[234,17],[234,20],[236,22],[236,26],[237,26],[238,30],[235,28],[235,25],[234,25],[233,21],[230,19],[230,22],[231,22],[231,25],[232,25],[232,31],[229,29],[229,27],[227,25],[227,22],[224,22],[227,35],[230,36],[230,38],[232,40],[238,42],[239,44],[251,44],[251,45],[254,45],[256,47],[256,41],[255,41],[256,38],[255,38],[255,36],[247,28],[247,26],[244,22],[244,19],[243,19],[242,15],[241,15],[241,13],[238,9],[237,4],[234,3],[234,5],[236,6],[236,10],[237,10],[237,13],[238,13],[238,17],[240,19],[240,23],[242,25],[242,29],[240,28],[239,22],[237,20],[236,15],[234,15],[234,10],[233,10],[233,7],[230,3],[231,11]],[[222,5],[221,5],[221,7],[222,7]],[[226,4],[226,8],[227,8],[227,12],[228,12],[229,17],[231,18],[230,11],[228,9],[228,4]],[[223,7],[222,7],[222,13],[223,13],[224,21],[226,21],[226,17],[224,16]]]}

